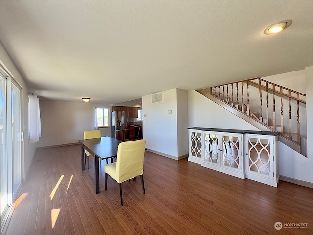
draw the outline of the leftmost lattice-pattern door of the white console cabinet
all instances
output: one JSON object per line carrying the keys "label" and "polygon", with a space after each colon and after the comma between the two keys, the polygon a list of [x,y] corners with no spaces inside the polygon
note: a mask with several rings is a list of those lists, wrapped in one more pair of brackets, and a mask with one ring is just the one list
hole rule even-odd
{"label": "leftmost lattice-pattern door of the white console cabinet", "polygon": [[189,157],[188,161],[201,164],[202,162],[202,132],[189,130]]}

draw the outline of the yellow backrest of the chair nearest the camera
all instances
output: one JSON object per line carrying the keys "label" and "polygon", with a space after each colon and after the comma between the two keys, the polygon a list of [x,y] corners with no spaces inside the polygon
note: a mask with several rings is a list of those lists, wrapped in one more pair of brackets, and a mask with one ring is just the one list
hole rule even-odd
{"label": "yellow backrest of the chair nearest the camera", "polygon": [[118,145],[116,158],[118,183],[143,174],[145,147],[146,140],[127,141]]}

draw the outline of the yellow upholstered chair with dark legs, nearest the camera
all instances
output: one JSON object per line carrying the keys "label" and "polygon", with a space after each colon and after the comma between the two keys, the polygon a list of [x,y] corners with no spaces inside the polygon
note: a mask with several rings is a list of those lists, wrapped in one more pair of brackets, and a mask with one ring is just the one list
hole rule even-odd
{"label": "yellow upholstered chair with dark legs, nearest the camera", "polygon": [[146,140],[122,142],[117,148],[116,162],[104,166],[105,190],[107,190],[108,174],[119,183],[121,206],[123,206],[122,182],[140,175],[142,192],[145,192],[143,183],[143,158],[145,155]]}

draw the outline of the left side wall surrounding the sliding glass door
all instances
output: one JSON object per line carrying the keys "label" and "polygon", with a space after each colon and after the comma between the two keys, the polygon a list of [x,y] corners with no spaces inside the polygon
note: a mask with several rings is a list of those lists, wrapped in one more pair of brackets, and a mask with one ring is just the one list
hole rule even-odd
{"label": "left side wall surrounding the sliding glass door", "polygon": [[[28,87],[22,78],[22,75],[20,72],[17,70],[15,65],[13,64],[11,58],[5,51],[4,47],[1,44],[0,47],[1,53],[0,53],[0,59],[1,59],[1,64],[3,64],[7,70],[13,75],[14,80],[16,80],[21,86],[21,107],[22,107],[22,112],[21,112],[21,118],[22,118],[22,131],[25,133],[24,136],[27,137],[28,133]],[[24,141],[22,142],[22,178],[25,180],[30,164],[32,162],[32,159],[34,157],[34,153],[36,150],[36,145],[33,143],[29,143],[28,138],[25,138]]]}

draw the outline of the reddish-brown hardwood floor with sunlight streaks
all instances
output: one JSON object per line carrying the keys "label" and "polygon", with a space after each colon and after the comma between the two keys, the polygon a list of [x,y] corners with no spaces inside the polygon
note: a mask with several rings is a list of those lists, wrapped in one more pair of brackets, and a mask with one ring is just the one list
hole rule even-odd
{"label": "reddish-brown hardwood floor with sunlight streaks", "polygon": [[313,188],[284,181],[274,188],[146,151],[146,194],[140,178],[124,182],[121,207],[111,177],[104,191],[104,164],[95,194],[93,158],[81,171],[80,145],[37,150],[5,234],[313,234]]}

